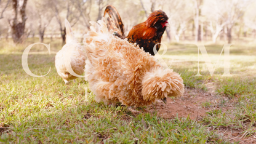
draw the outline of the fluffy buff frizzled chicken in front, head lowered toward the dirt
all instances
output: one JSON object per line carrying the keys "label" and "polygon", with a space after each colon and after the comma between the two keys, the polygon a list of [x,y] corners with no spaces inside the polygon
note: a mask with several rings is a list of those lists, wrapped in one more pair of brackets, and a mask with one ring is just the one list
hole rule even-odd
{"label": "fluffy buff frizzled chicken in front, head lowered toward the dirt", "polygon": [[127,39],[113,36],[106,24],[90,22],[84,37],[86,80],[96,102],[126,106],[146,106],[168,96],[182,96],[183,79],[173,70],[164,69],[156,58]]}

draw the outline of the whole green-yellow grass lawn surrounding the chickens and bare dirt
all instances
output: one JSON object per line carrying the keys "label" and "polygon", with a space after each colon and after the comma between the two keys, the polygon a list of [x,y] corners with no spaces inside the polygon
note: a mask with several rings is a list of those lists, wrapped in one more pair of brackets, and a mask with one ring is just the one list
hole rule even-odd
{"label": "whole green-yellow grass lawn surrounding the chickens and bare dirt", "polygon": [[[207,92],[207,83],[213,82],[216,94],[224,98],[217,103],[202,103],[209,111],[204,118],[193,121],[189,116],[163,119],[157,113],[134,116],[125,106],[113,108],[95,102],[90,90],[86,102],[88,83],[78,78],[65,86],[55,70],[54,57],[62,47],[60,39],[46,39],[51,54],[42,46],[31,49],[28,63],[32,73],[43,75],[51,70],[42,78],[29,76],[21,58],[25,47],[34,41],[29,39],[17,46],[0,42],[0,127],[6,127],[0,129],[0,143],[231,143],[218,133],[219,127],[239,130],[246,133],[244,137],[255,135],[253,46],[231,46],[232,78],[221,77],[222,65],[210,76],[204,62],[200,62],[204,77],[194,77],[198,71],[197,48],[189,44],[168,46],[163,58],[167,63],[175,59],[171,68],[182,74],[186,87]],[[222,46],[209,45],[206,49],[215,60]],[[230,103],[231,110],[222,110]]]}

